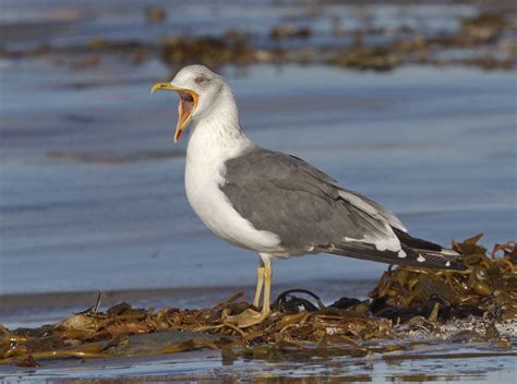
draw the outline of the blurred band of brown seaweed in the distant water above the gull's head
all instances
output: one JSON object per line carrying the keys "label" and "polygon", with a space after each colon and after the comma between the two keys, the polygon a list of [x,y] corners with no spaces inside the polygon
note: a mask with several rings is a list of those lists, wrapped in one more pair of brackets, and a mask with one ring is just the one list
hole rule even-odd
{"label": "blurred band of brown seaweed in the distant water above the gull's head", "polygon": [[[516,13],[501,3],[474,7],[474,15],[457,16],[454,28],[430,32],[425,23],[377,25],[374,7],[357,7],[356,23],[342,27],[339,14],[316,13],[301,19],[285,19],[261,32],[231,29],[216,35],[187,34],[151,39],[121,39],[97,36],[86,43],[0,47],[0,57],[10,59],[50,58],[72,61],[74,69],[101,68],[105,57],[121,56],[132,64],[161,59],[176,70],[180,65],[202,63],[328,64],[360,71],[389,71],[405,64],[470,65],[486,70],[517,68]],[[311,12],[309,12],[311,13]],[[83,17],[83,16],[82,16]],[[167,11],[157,5],[145,9],[148,23],[164,23]],[[81,21],[83,19],[79,19]],[[322,31],[328,23],[328,38]],[[9,36],[10,28],[3,26]],[[7,39],[9,41],[9,39]],[[64,60],[63,60],[64,59]],[[109,60],[108,60],[109,62]]]}

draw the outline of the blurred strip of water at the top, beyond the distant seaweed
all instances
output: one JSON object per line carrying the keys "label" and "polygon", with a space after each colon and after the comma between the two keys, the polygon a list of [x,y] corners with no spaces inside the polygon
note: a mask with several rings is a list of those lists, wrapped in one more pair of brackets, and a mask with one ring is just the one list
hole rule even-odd
{"label": "blurred strip of water at the top, beyond the distant seaweed", "polygon": [[[149,5],[166,10],[166,20],[149,23],[145,17]],[[250,35],[254,45],[262,47],[342,46],[351,39],[334,32],[358,31],[364,26],[393,31],[404,26],[418,28],[423,35],[436,35],[456,29],[458,17],[478,12],[476,5],[454,2],[446,7],[407,2],[368,5],[353,1],[313,5],[310,2],[268,0],[93,0],[73,5],[65,0],[3,0],[0,7],[8,48],[47,43],[63,47],[84,44],[96,37],[155,43],[169,36],[221,35],[228,31],[243,32]],[[308,27],[311,34],[304,39],[269,39],[272,28],[286,24]]]}

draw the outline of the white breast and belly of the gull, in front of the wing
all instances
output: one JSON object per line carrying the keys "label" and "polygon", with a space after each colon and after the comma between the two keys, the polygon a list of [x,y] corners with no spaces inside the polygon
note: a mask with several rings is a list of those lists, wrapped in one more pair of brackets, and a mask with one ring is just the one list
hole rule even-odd
{"label": "white breast and belly of the gull, in front of the wing", "polygon": [[250,221],[233,209],[219,189],[225,182],[225,161],[240,154],[249,140],[228,137],[214,127],[197,124],[191,133],[187,151],[185,190],[189,202],[203,223],[226,241],[263,253],[280,253],[278,236],[253,228]]}

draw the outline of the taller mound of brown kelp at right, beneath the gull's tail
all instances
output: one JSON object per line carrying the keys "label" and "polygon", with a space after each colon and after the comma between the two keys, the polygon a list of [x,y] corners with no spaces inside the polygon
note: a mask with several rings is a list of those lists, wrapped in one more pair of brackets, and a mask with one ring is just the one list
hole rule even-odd
{"label": "taller mound of brown kelp at right, beneath the gull's tail", "polygon": [[[453,241],[467,271],[389,268],[370,293],[373,313],[406,320],[419,313],[446,321],[469,315],[517,320],[517,250],[514,242],[496,244],[491,255],[478,244],[482,235]],[[496,256],[497,253],[502,256]]]}

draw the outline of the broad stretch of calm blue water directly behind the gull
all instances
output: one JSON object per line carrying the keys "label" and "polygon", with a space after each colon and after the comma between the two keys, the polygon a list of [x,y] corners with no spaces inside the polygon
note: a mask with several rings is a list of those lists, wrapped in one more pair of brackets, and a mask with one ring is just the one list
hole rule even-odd
{"label": "broad stretch of calm blue water directly behind the gull", "polygon": [[[513,73],[224,72],[251,139],[375,199],[414,236],[444,244],[478,232],[485,244],[517,238]],[[79,72],[45,60],[3,64],[0,293],[253,284],[256,256],[212,235],[185,199],[176,97],[148,93],[169,77],[156,61],[113,59]],[[312,255],[276,263],[275,280],[384,269]]]}

